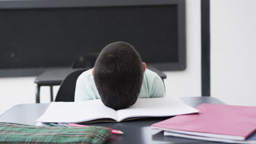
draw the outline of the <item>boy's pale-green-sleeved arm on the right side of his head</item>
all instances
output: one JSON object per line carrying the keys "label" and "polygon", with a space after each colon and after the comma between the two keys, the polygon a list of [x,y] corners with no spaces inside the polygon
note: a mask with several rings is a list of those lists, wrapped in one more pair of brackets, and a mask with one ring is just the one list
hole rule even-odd
{"label": "boy's pale-green-sleeved arm on the right side of his head", "polygon": [[159,75],[155,75],[150,87],[150,98],[162,98],[165,97],[165,86]]}

